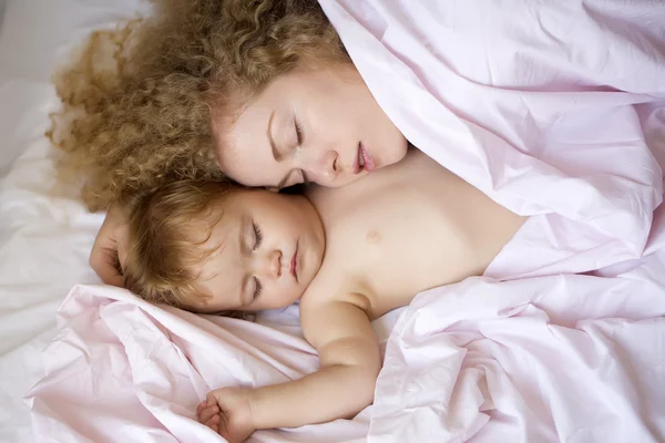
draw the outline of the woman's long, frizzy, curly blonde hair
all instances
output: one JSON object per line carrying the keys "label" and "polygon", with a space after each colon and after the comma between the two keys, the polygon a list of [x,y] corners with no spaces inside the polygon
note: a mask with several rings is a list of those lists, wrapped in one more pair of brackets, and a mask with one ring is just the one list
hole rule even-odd
{"label": "woman's long, frizzy, curly blonde hair", "polygon": [[[153,0],[94,32],[54,79],[47,134],[91,210],[177,179],[221,179],[212,111],[238,112],[299,64],[350,62],[316,0]],[[104,65],[104,54],[112,63]]]}

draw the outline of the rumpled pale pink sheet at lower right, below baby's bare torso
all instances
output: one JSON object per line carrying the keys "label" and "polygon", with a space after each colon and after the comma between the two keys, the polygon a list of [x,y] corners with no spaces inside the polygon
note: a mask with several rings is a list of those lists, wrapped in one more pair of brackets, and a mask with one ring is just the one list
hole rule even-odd
{"label": "rumpled pale pink sheet at lower right, below baby's bare torso", "polygon": [[658,213],[649,254],[612,277],[472,278],[420,293],[392,331],[368,441],[665,441]]}

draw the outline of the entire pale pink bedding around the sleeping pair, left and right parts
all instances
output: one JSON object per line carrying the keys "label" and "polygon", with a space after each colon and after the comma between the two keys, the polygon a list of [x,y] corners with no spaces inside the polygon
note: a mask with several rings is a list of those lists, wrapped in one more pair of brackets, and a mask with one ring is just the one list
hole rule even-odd
{"label": "entire pale pink bedding around the sleeping pair, left and right parts", "polygon": [[[401,313],[375,405],[255,441],[664,441],[665,3],[320,2],[407,137],[531,218],[483,278],[376,324]],[[316,369],[296,309],[252,324],[76,287],[35,433],[213,441],[208,389]]]}

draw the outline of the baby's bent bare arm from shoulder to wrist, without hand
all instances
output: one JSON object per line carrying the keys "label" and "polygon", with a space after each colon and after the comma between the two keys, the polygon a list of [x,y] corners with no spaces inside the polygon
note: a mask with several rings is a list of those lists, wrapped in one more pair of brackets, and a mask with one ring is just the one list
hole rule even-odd
{"label": "baby's bent bare arm from shoulder to wrist, without hand", "polygon": [[319,352],[320,369],[300,380],[255,390],[252,409],[257,429],[351,418],[374,400],[381,357],[365,311],[342,301],[303,300],[300,321],[305,338]]}

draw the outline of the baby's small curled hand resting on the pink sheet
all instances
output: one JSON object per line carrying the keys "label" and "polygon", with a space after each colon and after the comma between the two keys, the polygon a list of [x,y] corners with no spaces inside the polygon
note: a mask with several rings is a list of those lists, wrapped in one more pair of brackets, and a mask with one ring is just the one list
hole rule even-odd
{"label": "baby's small curled hand resting on the pink sheet", "polygon": [[223,388],[212,391],[196,406],[198,422],[217,432],[229,443],[244,442],[254,431],[250,390]]}

